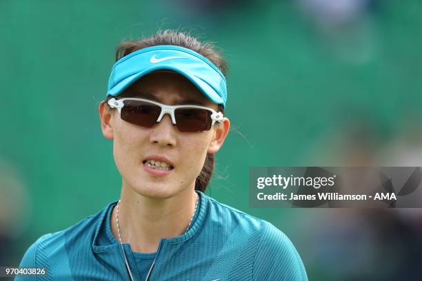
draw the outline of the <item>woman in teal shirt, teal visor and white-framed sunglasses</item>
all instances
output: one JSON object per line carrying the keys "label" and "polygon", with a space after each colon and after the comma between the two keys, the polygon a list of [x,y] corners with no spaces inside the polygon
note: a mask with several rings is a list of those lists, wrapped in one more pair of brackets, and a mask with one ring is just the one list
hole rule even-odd
{"label": "woman in teal shirt, teal visor and white-framed sunglasses", "polygon": [[46,268],[39,280],[307,280],[279,229],[203,194],[230,128],[226,69],[180,32],[119,45],[99,115],[121,198],[39,238],[20,267]]}

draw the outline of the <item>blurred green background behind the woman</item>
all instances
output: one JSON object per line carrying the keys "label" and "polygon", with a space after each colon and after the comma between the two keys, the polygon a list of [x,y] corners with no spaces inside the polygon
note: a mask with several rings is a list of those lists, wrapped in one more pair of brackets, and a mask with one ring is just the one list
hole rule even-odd
{"label": "blurred green background behind the woman", "polygon": [[310,280],[413,280],[419,210],[252,209],[248,169],[422,166],[421,12],[417,0],[0,1],[0,264],[117,200],[98,114],[114,50],[170,28],[229,63],[233,128],[207,193],[284,231]]}

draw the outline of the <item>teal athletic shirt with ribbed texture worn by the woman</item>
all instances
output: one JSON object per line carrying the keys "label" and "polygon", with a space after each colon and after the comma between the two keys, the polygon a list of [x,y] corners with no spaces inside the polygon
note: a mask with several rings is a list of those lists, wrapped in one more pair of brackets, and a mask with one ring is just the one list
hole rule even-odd
{"label": "teal athletic shirt with ribbed texture worn by the woman", "polygon": [[[161,239],[157,253],[133,253],[130,244],[123,244],[134,280],[145,280],[152,256],[150,281],[308,280],[299,253],[277,227],[197,193],[190,229]],[[116,204],[41,236],[19,267],[45,268],[47,274],[15,280],[130,280],[121,246],[110,231],[110,211]]]}

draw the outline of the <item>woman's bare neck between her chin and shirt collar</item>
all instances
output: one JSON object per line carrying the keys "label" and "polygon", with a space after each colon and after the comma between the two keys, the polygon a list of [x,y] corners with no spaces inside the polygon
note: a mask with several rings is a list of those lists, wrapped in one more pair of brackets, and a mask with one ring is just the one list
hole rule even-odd
{"label": "woman's bare neck between her chin and shirt collar", "polygon": [[[132,251],[154,253],[161,238],[185,233],[194,214],[197,194],[194,187],[171,198],[148,198],[132,188],[121,191],[119,227],[121,242],[129,243]],[[117,206],[112,210],[111,230],[119,242]]]}

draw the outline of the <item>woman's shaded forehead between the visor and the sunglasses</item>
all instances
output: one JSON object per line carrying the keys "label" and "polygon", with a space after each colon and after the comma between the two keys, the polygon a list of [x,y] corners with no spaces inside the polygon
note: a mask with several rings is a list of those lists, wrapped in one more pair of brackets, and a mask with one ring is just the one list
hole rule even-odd
{"label": "woman's shaded forehead between the visor and the sunglasses", "polygon": [[146,74],[130,85],[121,96],[149,98],[165,104],[190,103],[217,107],[185,76],[172,71]]}

